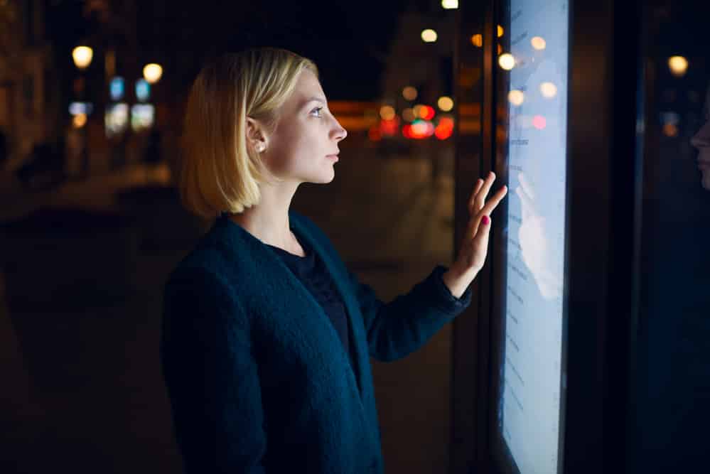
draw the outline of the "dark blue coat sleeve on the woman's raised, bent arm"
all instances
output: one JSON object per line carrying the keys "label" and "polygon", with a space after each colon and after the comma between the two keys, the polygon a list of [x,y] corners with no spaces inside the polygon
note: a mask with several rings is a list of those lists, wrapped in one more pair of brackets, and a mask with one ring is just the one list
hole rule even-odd
{"label": "dark blue coat sleeve on the woman's raised, bent arm", "polygon": [[446,267],[436,266],[409,293],[389,303],[380,301],[370,286],[360,283],[357,276],[348,271],[372,357],[389,362],[409,355],[468,307],[470,287],[461,298],[456,298],[441,279],[444,271]]}

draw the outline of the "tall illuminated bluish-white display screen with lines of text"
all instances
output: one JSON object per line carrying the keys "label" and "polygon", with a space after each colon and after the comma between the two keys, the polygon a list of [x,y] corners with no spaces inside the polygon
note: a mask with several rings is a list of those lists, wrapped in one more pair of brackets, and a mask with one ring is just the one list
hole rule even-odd
{"label": "tall illuminated bluish-white display screen with lines of text", "polygon": [[[566,212],[566,0],[510,0],[505,330],[498,429],[521,474],[558,472]],[[507,62],[506,62],[507,61]]]}

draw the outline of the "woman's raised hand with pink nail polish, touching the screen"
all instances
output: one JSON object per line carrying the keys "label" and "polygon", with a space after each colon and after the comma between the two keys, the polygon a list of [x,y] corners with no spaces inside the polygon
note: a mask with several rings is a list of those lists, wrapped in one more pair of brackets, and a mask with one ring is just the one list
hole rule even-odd
{"label": "woman's raised hand with pink nail polish, touching the screen", "polygon": [[507,186],[504,185],[488,202],[485,202],[493,181],[495,181],[495,173],[491,172],[485,181],[478,179],[476,182],[475,189],[468,200],[470,217],[461,249],[456,262],[453,262],[451,268],[442,275],[444,284],[456,298],[461,298],[468,285],[483,268],[485,257],[488,255],[489,216],[507,194]]}

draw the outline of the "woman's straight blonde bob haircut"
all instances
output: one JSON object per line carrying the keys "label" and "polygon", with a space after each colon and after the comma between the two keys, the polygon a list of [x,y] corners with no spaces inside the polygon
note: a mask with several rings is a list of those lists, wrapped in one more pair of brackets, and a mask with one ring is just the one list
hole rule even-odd
{"label": "woman's straight blonde bob haircut", "polygon": [[228,53],[203,67],[181,137],[178,188],[185,208],[209,219],[259,203],[259,183],[270,173],[247,141],[247,117],[273,133],[304,69],[318,77],[313,61],[279,48]]}

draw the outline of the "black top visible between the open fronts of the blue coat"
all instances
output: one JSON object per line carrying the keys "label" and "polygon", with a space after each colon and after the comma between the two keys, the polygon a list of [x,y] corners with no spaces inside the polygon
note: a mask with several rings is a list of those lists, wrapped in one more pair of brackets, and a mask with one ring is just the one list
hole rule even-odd
{"label": "black top visible between the open fronts of the blue coat", "polygon": [[345,316],[345,305],[340,299],[338,291],[335,289],[333,281],[330,279],[330,274],[326,266],[321,262],[321,259],[316,258],[316,253],[313,249],[308,248],[303,242],[298,241],[303,247],[303,252],[306,257],[298,257],[298,255],[286,252],[284,249],[269,245],[276,254],[281,257],[286,266],[291,269],[296,278],[301,280],[304,286],[311,292],[313,298],[318,301],[323,311],[326,312],[330,322],[340,336],[340,342],[343,343],[345,353],[348,354],[350,363],[352,364],[352,355],[350,354],[350,337],[348,334],[348,317]]}

